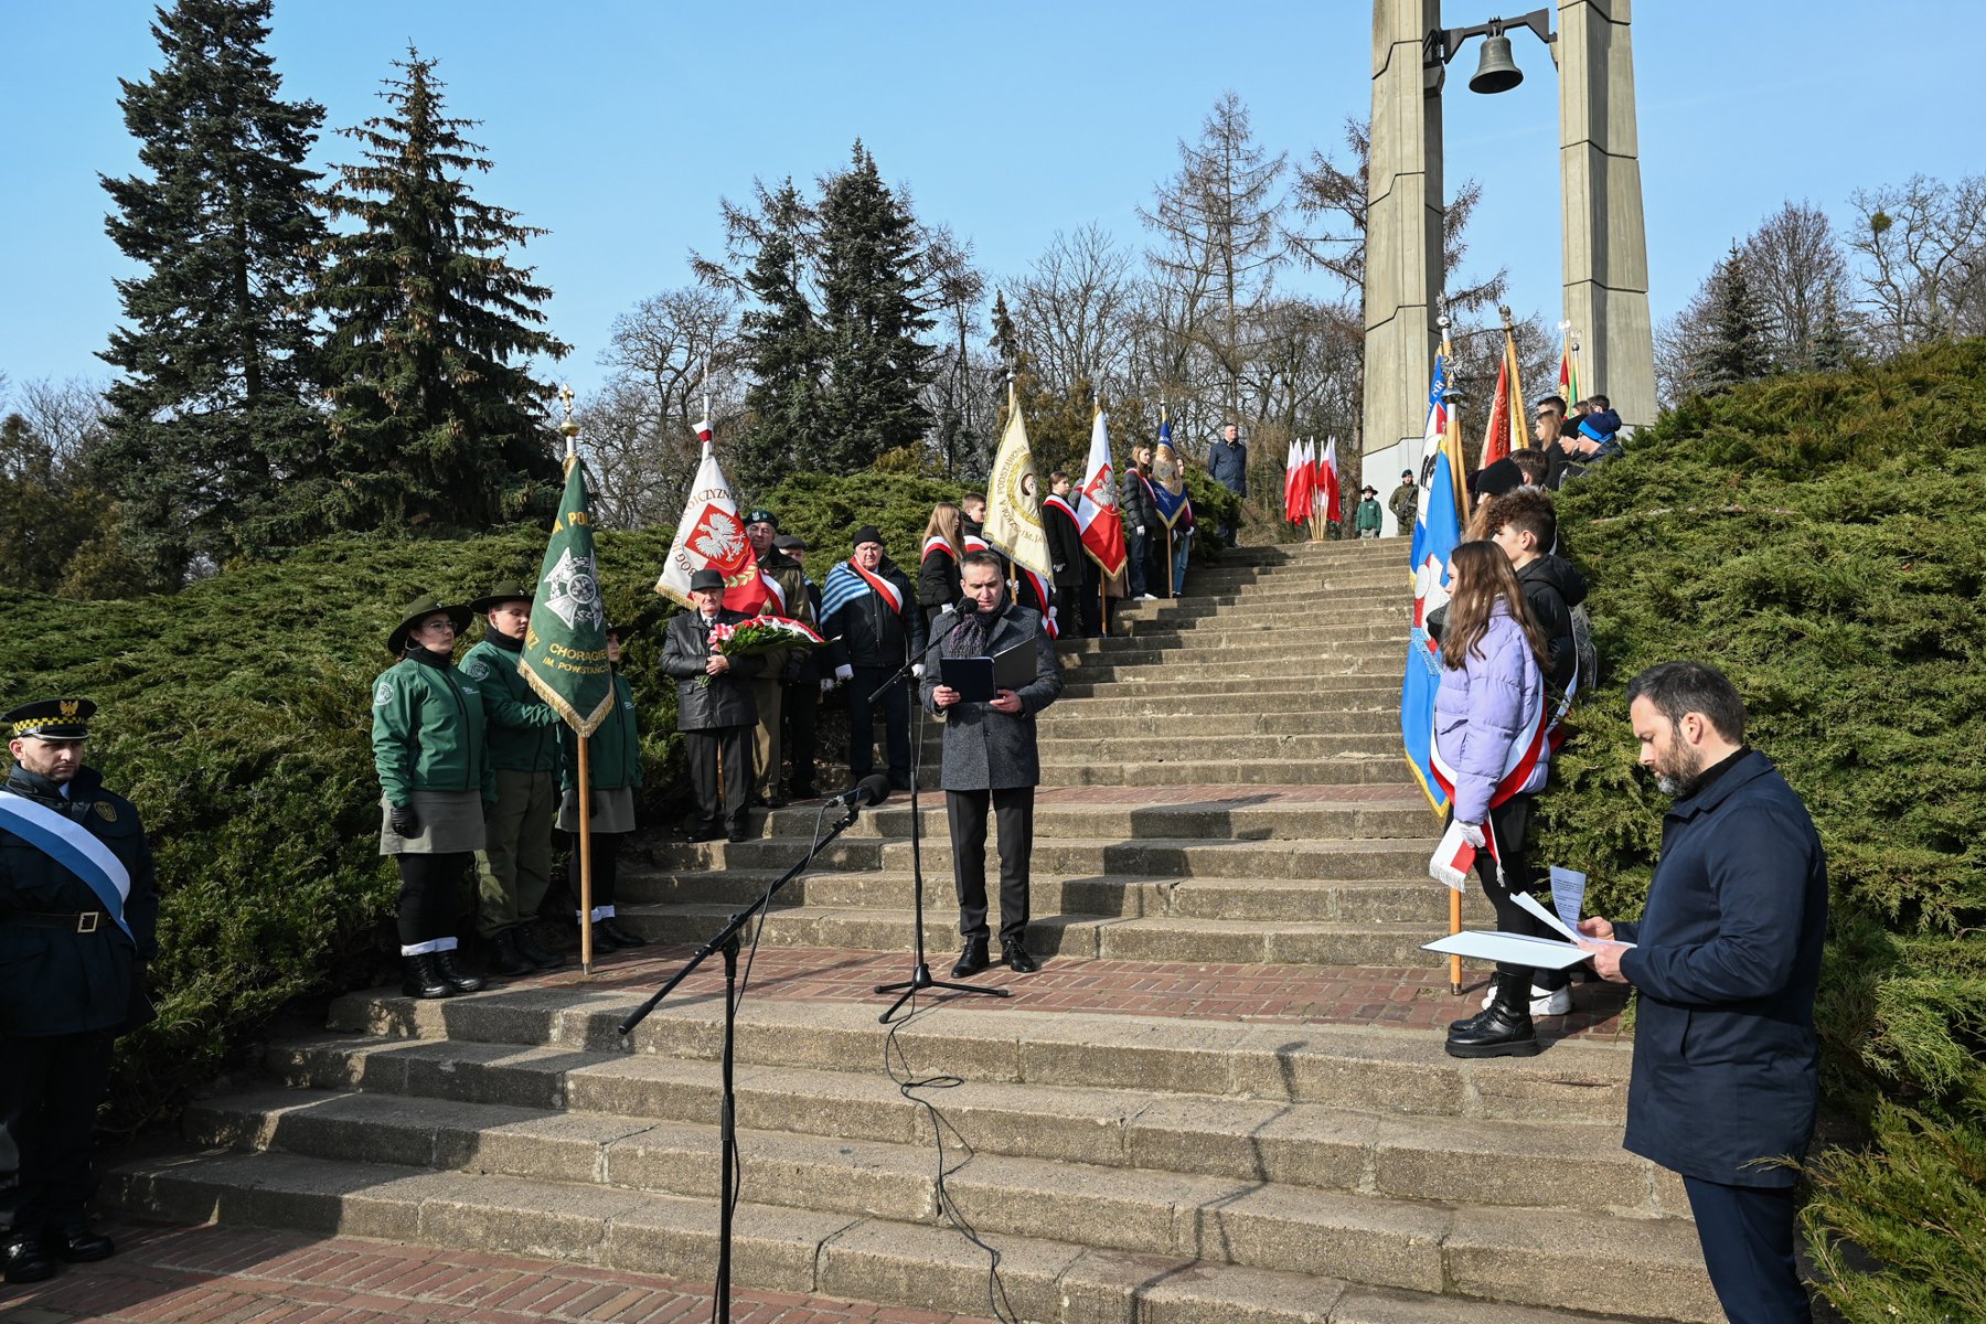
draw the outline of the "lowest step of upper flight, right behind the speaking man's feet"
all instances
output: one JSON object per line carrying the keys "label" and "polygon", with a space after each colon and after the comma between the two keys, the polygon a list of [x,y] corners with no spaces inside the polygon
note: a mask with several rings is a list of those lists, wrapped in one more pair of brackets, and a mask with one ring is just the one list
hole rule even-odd
{"label": "lowest step of upper flight, right behind the speaking man's feet", "polygon": [[[957,911],[945,905],[943,879],[951,865],[931,865],[939,889],[925,875],[923,945],[957,951]],[[1432,883],[1430,883],[1432,887]],[[997,879],[993,885],[997,891]],[[1446,905],[1446,903],[1444,903]],[[695,945],[723,929],[737,905],[628,905],[620,919],[645,939]],[[999,923],[999,903],[989,923]],[[755,927],[767,947],[830,947],[900,951],[916,947],[910,909],[852,909],[838,905],[782,905]],[[1027,947],[1037,957],[1102,961],[1184,961],[1196,965],[1366,965],[1434,969],[1444,957],[1420,951],[1448,931],[1434,919],[1412,923],[1301,923],[1287,919],[1200,919],[1192,915],[1082,915],[1051,913],[1033,903]]]}

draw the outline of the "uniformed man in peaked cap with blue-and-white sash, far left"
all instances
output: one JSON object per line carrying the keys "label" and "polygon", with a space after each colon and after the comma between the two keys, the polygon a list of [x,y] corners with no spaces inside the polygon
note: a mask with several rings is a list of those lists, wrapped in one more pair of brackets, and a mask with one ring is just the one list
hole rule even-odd
{"label": "uniformed man in peaked cap with blue-and-white sash, far left", "polygon": [[97,705],[0,717],[0,1268],[40,1282],[56,1260],[115,1255],[85,1207],[89,1131],[117,1034],[151,1020],[143,963],[159,893],[137,810],[83,766]]}

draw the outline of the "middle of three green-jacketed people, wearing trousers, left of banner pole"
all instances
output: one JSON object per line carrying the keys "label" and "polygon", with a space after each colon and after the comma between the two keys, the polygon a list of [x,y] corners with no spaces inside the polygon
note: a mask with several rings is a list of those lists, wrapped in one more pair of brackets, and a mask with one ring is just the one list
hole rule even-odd
{"label": "middle of three green-jacketed people, wearing trousers, left of banner pole", "polygon": [[530,596],[532,588],[506,580],[471,601],[487,629],[461,663],[463,677],[483,695],[496,764],[496,808],[489,844],[477,856],[477,933],[491,945],[491,971],[498,975],[566,963],[530,935],[552,885],[552,818],[564,760],[558,746],[564,721],[518,671]]}

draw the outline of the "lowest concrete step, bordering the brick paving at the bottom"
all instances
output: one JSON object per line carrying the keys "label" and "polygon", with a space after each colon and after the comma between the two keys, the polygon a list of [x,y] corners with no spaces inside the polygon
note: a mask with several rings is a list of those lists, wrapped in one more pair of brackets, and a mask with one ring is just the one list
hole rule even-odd
{"label": "lowest concrete step, bordering the brick paving at the bottom", "polygon": [[[715,1270],[717,1229],[709,1199],[385,1163],[328,1163],[290,1153],[131,1163],[105,1185],[123,1207],[175,1221],[340,1231],[681,1278],[709,1278]],[[745,1286],[985,1312],[987,1257],[945,1227],[741,1203],[733,1247],[733,1280]],[[1482,1257],[1472,1243],[1458,1241],[1456,1249],[1468,1272],[1456,1286],[1466,1288],[1478,1276],[1470,1264]],[[1339,1324],[1603,1324],[1591,1314],[1045,1239],[1003,1237],[999,1251],[1007,1304],[1019,1318],[1045,1324],[1132,1318],[1319,1324],[1325,1310]]]}

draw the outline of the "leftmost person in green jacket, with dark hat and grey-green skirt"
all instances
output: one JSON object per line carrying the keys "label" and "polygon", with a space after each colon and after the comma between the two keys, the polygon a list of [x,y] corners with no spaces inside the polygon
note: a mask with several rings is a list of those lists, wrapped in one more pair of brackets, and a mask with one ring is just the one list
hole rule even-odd
{"label": "leftmost person in green jacket, with dark hat and grey-green skirt", "polygon": [[496,800],[483,695],[455,671],[467,605],[417,597],[385,639],[399,661],[373,681],[379,854],[399,865],[401,991],[413,998],[475,993],[455,959],[461,889]]}

